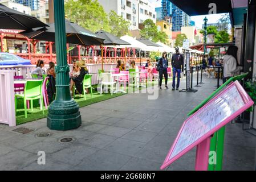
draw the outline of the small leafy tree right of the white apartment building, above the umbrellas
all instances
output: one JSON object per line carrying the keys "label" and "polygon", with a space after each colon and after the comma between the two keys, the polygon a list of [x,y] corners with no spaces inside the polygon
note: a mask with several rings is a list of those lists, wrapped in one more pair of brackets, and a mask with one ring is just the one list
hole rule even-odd
{"label": "small leafy tree right of the white apartment building, above the umbrellas", "polygon": [[153,42],[168,42],[168,35],[165,32],[158,31],[152,19],[145,20],[143,25],[144,28],[140,31],[141,38],[152,40]]}

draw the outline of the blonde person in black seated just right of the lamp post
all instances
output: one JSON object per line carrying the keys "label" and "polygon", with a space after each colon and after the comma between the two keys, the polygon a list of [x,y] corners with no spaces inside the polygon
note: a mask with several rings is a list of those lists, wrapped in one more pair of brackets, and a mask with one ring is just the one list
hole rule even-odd
{"label": "blonde person in black seated just right of the lamp post", "polygon": [[80,74],[79,74],[79,76],[75,76],[71,79],[70,92],[72,93],[71,85],[75,84],[76,90],[78,90],[78,92],[80,94],[82,94],[83,93],[83,80],[84,80],[84,76],[86,76],[88,74],[88,69],[86,67],[85,61],[83,61],[83,60],[76,61],[76,65],[78,65],[78,67],[80,68]]}

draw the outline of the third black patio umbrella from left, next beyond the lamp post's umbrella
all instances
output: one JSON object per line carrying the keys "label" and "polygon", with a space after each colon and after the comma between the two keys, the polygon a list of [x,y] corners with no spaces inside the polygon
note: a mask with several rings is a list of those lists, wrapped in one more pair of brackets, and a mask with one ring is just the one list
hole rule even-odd
{"label": "third black patio umbrella from left, next beyond the lamp post's umbrella", "polygon": [[104,30],[99,30],[95,34],[105,39],[103,43],[105,46],[131,45],[130,43],[125,42],[124,40],[119,39],[117,36],[109,34]]}

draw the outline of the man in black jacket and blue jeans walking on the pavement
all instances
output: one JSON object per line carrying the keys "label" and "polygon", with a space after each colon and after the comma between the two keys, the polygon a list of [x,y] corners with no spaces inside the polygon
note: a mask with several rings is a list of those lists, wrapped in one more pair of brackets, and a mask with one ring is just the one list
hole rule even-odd
{"label": "man in black jacket and blue jeans walking on the pavement", "polygon": [[180,74],[181,70],[184,70],[184,60],[183,56],[180,54],[179,48],[175,48],[176,53],[172,56],[172,70],[173,70],[173,81],[172,81],[172,90],[175,90],[175,79],[177,73],[177,85],[176,90],[180,87]]}

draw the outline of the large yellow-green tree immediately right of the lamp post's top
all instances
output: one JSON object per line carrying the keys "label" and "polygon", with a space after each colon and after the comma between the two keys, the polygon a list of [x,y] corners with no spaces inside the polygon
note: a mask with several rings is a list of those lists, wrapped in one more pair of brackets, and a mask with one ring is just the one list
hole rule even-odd
{"label": "large yellow-green tree immediately right of the lamp post's top", "polygon": [[68,20],[92,32],[100,30],[101,27],[110,31],[108,15],[97,0],[68,0],[65,3],[65,14]]}

